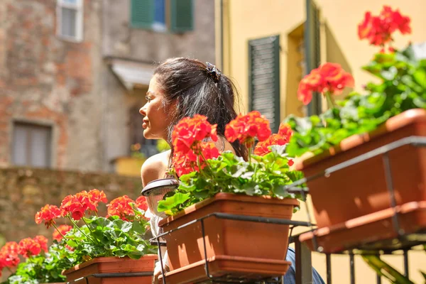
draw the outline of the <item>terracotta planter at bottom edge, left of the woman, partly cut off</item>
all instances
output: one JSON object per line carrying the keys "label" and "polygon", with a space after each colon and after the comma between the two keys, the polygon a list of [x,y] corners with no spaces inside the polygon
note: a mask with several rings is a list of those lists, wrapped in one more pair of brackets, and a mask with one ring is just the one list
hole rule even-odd
{"label": "terracotta planter at bottom edge, left of the woman, partly cut off", "polygon": [[[63,271],[67,281],[75,284],[151,284],[157,255],[140,259],[100,257]],[[115,274],[114,274],[115,273]]]}

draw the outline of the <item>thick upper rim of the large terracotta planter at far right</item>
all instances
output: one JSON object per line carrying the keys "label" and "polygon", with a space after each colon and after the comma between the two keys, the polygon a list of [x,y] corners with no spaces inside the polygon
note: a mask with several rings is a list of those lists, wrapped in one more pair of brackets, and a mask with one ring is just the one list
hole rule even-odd
{"label": "thick upper rim of the large terracotta planter at far right", "polygon": [[316,163],[320,163],[322,160],[332,158],[334,155],[338,155],[339,153],[356,148],[357,146],[360,146],[374,138],[383,136],[386,133],[420,122],[426,123],[425,109],[409,109],[408,111],[403,111],[402,113],[388,119],[384,124],[378,126],[377,129],[371,132],[354,134],[348,138],[344,138],[337,146],[330,147],[327,151],[318,155],[305,153],[302,157],[295,159],[295,169],[303,170],[304,168],[308,168]]}

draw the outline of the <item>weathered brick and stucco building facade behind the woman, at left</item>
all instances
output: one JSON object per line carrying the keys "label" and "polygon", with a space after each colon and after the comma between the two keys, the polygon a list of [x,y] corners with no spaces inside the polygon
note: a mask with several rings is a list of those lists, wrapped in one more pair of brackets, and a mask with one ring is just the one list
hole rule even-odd
{"label": "weathered brick and stucco building facade behind the woman, at left", "polygon": [[[0,1],[0,166],[114,171],[155,64],[214,62],[214,1]],[[136,169],[136,173],[138,169]]]}

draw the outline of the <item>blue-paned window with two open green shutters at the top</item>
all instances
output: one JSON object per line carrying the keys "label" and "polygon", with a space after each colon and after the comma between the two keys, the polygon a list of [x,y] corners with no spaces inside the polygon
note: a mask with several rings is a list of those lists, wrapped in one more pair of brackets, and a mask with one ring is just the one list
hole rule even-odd
{"label": "blue-paned window with two open green shutters at the top", "polygon": [[192,31],[193,0],[131,0],[131,26],[153,31]]}

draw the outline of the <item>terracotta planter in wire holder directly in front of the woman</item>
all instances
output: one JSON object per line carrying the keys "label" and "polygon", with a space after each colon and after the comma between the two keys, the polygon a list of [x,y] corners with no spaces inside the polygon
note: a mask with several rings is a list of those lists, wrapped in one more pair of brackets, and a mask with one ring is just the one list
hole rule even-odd
{"label": "terracotta planter in wire holder directly in front of the woman", "polygon": [[[251,197],[221,192],[173,217],[163,219],[160,226],[164,231],[170,231],[213,212],[291,219],[293,209],[298,204],[299,202],[294,199],[278,200],[271,197]],[[290,264],[284,261],[288,247],[288,230],[288,225],[216,217],[204,219],[207,258],[209,261],[216,261],[212,270],[217,274],[229,271],[247,274],[251,270],[257,271],[260,275],[271,273],[283,275]],[[185,270],[192,270],[193,273],[190,273],[192,278],[197,278],[195,275],[197,271],[206,275],[203,268],[204,245],[201,222],[194,222],[190,226],[173,231],[164,238],[167,242],[170,273],[177,273],[175,270],[181,268],[182,273],[185,273]],[[267,269],[265,263],[273,266]]]}

